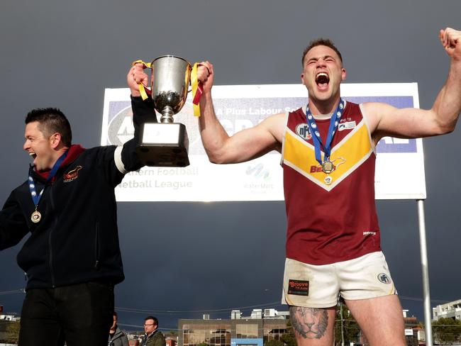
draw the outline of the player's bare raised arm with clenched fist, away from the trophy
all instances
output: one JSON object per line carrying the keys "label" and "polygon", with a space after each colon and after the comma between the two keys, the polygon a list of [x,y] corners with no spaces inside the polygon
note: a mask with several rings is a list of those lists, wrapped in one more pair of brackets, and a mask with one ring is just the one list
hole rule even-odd
{"label": "player's bare raised arm with clenched fist, away from the trophy", "polygon": [[374,102],[364,104],[375,143],[385,136],[419,138],[442,135],[455,129],[461,111],[461,31],[446,28],[440,30],[439,36],[450,57],[450,71],[432,108],[395,108]]}

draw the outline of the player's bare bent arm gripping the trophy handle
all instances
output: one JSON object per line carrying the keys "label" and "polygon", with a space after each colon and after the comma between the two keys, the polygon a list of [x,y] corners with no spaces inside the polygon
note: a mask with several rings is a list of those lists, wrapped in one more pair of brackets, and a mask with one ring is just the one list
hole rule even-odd
{"label": "player's bare bent arm gripping the trophy handle", "polygon": [[213,163],[245,162],[282,147],[284,114],[275,114],[253,128],[247,128],[229,136],[216,118],[211,98],[213,65],[202,62],[199,79],[204,83],[200,99],[199,128],[206,154]]}

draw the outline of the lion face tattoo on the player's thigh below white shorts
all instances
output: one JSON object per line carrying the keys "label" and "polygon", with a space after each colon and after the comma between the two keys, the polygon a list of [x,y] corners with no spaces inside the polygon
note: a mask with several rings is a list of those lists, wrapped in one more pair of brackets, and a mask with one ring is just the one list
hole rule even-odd
{"label": "lion face tattoo on the player's thigh below white shorts", "polygon": [[295,332],[304,339],[320,339],[326,333],[328,325],[326,309],[290,306],[290,319]]}

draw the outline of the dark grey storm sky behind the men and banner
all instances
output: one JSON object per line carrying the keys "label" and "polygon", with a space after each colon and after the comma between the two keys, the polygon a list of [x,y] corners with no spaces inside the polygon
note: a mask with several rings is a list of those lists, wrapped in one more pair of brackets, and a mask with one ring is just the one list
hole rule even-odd
{"label": "dark grey storm sky behind the men and banner", "polygon": [[[449,66],[438,30],[460,28],[460,12],[459,0],[2,1],[0,202],[27,176],[25,114],[60,107],[74,142],[98,145],[104,89],[125,87],[137,58],[173,53],[210,60],[215,84],[293,84],[302,50],[323,36],[343,54],[346,82],[418,82],[420,106],[430,108]],[[460,128],[423,143],[435,306],[461,298]],[[377,206],[402,305],[422,319],[416,202]],[[193,311],[228,318],[232,308],[281,310],[274,302],[281,295],[285,222],[282,201],[118,203],[126,280],[117,286],[116,306],[137,311],[121,311],[120,323],[141,325],[153,313],[172,329],[177,318],[201,317]],[[0,304],[7,312],[21,311],[23,294],[5,294],[25,284],[19,246],[0,252]],[[245,315],[250,310],[243,308]]]}

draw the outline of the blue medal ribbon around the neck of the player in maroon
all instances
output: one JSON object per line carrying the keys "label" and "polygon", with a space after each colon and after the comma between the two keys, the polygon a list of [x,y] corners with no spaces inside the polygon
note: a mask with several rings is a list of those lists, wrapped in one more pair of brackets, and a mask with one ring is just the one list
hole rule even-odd
{"label": "blue medal ribbon around the neck of the player in maroon", "polygon": [[[333,142],[333,137],[336,133],[336,130],[338,129],[341,116],[343,116],[344,104],[344,100],[340,99],[338,108],[336,108],[335,113],[333,113],[333,115],[330,118],[330,127],[328,128],[328,135],[325,144],[322,143],[320,130],[318,130],[316,120],[313,118],[313,115],[309,110],[309,104],[306,106],[306,120],[307,124],[309,125],[309,130],[311,130],[313,146],[316,149],[316,160],[319,164],[322,164],[325,161],[329,161],[330,159],[331,143]],[[323,162],[320,147],[323,147]]]}

